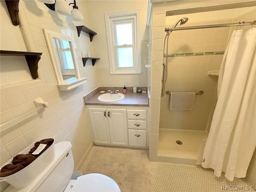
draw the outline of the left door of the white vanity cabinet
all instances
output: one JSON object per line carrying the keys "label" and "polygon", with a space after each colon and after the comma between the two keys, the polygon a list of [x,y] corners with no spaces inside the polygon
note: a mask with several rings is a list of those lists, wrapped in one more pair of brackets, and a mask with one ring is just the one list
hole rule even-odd
{"label": "left door of the white vanity cabinet", "polygon": [[111,144],[106,108],[88,108],[94,142]]}

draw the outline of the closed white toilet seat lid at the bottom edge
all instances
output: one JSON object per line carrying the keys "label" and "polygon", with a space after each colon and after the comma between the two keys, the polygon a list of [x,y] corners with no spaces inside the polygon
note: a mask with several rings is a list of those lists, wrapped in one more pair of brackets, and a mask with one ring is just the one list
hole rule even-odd
{"label": "closed white toilet seat lid at the bottom edge", "polygon": [[72,182],[71,192],[121,192],[112,178],[99,173],[82,175]]}

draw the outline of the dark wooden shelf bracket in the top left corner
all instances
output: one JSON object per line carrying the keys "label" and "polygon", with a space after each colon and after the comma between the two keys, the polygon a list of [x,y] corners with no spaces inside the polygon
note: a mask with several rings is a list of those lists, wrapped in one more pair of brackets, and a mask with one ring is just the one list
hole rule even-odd
{"label": "dark wooden shelf bracket in the top left corner", "polygon": [[19,24],[19,0],[5,0],[5,3],[12,20],[12,24],[17,26]]}

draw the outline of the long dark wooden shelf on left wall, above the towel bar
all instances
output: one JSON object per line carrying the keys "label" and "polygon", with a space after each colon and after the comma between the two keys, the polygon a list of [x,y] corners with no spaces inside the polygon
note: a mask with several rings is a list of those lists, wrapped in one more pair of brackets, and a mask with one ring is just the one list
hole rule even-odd
{"label": "long dark wooden shelf on left wall, above the towel bar", "polygon": [[32,78],[33,79],[38,78],[38,73],[37,73],[38,62],[41,58],[42,53],[0,50],[0,55],[25,56]]}

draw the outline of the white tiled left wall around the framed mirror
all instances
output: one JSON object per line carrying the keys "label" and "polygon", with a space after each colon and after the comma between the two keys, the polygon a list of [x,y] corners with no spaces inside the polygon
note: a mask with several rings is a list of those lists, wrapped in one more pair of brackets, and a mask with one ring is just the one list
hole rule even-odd
{"label": "white tiled left wall around the framed mirror", "polygon": [[[26,43],[19,26],[13,26],[6,4],[0,1],[1,8],[1,50],[27,51]],[[55,135],[55,142],[70,141],[74,155],[75,168],[83,163],[92,140],[90,138],[87,115],[83,96],[98,86],[96,70],[86,70],[82,65],[81,51],[76,27],[70,18],[59,16],[39,1],[20,1],[19,18],[22,24],[27,25],[27,33],[36,52],[42,52],[38,63],[38,79],[22,82],[1,82],[1,122],[11,119],[32,108],[33,100],[42,97],[49,107],[44,112],[36,114],[12,127],[2,130],[0,135],[0,163],[6,164],[21,150],[34,142]],[[67,22],[68,21],[68,22]],[[50,60],[49,52],[43,34],[43,28],[72,36],[75,42],[78,65],[82,77],[89,77],[88,82],[70,91],[59,91],[56,77]],[[20,58],[11,63],[12,56],[5,56],[4,62],[9,65],[25,64]],[[3,60],[2,60],[3,61]],[[12,68],[15,68],[13,66]],[[13,79],[18,78],[14,70],[7,72]],[[2,71],[1,71],[2,74]],[[1,188],[3,183],[1,182]]]}

